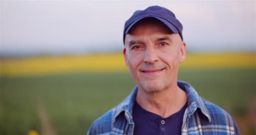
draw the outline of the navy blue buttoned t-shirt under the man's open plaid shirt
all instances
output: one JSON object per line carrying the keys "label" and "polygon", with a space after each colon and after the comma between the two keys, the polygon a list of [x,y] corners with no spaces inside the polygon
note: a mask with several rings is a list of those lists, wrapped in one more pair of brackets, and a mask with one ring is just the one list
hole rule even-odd
{"label": "navy blue buttoned t-shirt under the man's open plaid shirt", "polygon": [[187,103],[177,113],[162,118],[161,116],[144,110],[141,105],[135,102],[132,117],[135,122],[134,135],[156,135],[156,134],[181,134],[182,121]]}

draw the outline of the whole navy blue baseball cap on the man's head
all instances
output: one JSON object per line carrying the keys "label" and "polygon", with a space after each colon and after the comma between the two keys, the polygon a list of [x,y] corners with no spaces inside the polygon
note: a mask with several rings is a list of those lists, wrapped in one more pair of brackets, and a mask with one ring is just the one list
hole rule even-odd
{"label": "whole navy blue baseball cap on the man's head", "polygon": [[147,17],[153,17],[155,19],[158,19],[162,23],[164,23],[173,33],[179,33],[182,40],[182,29],[183,26],[181,22],[179,22],[178,19],[176,19],[176,16],[172,13],[172,11],[160,7],[158,5],[150,6],[145,10],[137,10],[133,15],[125,22],[124,26],[124,36],[123,36],[123,42],[125,42],[125,36],[129,31],[131,30],[132,26],[134,26],[138,21],[145,19]]}

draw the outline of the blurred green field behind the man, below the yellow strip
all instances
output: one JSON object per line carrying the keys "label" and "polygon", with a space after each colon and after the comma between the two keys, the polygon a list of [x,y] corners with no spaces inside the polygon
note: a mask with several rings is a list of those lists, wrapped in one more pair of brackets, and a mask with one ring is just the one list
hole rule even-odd
{"label": "blurred green field behind the man, below the yellow strip", "polygon": [[[255,72],[255,68],[181,69],[178,78],[240,120],[249,115],[249,104],[256,99]],[[136,85],[127,72],[2,76],[0,83],[1,135],[42,132],[38,103],[44,104],[57,134],[86,134],[92,121],[121,102]],[[238,121],[237,125],[245,134],[255,133],[248,123]]]}

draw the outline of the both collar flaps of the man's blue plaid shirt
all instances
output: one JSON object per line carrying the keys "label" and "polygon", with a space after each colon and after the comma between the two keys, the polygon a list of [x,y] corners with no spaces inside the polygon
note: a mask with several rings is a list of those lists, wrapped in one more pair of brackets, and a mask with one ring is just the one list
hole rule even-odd
{"label": "both collar flaps of the man's blue plaid shirt", "polygon": [[[187,113],[185,112],[186,117],[190,117],[193,115],[197,108],[199,108],[203,115],[205,115],[208,120],[211,122],[211,116],[208,109],[205,106],[202,98],[199,97],[195,89],[185,81],[178,81],[178,86],[181,87],[182,90],[187,92],[188,96],[188,107]],[[136,95],[138,92],[138,87],[136,86],[135,89],[132,90],[131,94],[124,99],[123,102],[117,105],[115,108],[114,119],[118,117],[119,114],[124,112],[125,117],[129,123],[132,123],[132,108],[135,103]],[[185,116],[184,115],[184,116]],[[115,122],[115,121],[114,121]]]}

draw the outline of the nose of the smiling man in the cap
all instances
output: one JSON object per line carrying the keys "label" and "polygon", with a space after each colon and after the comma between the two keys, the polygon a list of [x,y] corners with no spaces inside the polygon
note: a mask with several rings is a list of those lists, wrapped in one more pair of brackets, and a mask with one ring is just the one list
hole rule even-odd
{"label": "nose of the smiling man in the cap", "polygon": [[144,62],[146,63],[154,63],[158,61],[158,53],[155,50],[154,47],[148,47],[146,48],[146,51],[144,52]]}

